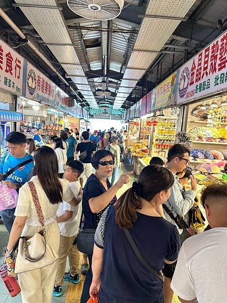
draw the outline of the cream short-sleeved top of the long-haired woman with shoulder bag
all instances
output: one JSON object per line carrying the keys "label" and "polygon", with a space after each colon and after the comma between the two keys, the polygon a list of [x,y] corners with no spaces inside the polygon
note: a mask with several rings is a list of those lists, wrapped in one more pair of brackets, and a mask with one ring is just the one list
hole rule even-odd
{"label": "cream short-sleeved top of the long-haired woman with shoulder bag", "polygon": [[[47,225],[56,219],[56,212],[59,208],[59,204],[51,204],[49,202],[37,176],[32,177],[30,181],[34,182],[45,225]],[[59,179],[59,181],[62,183],[63,187],[63,200],[67,202],[71,201],[74,197],[74,193],[69,186],[69,181],[66,179]],[[27,217],[26,225],[40,226],[31,190],[27,183],[19,190],[18,202],[14,215],[17,217]]]}

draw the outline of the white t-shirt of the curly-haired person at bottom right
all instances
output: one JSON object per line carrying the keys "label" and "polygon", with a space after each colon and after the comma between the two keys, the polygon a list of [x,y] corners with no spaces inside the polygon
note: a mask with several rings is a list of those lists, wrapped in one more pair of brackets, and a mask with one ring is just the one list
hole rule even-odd
{"label": "white t-shirt of the curly-haired person at bottom right", "polygon": [[185,300],[227,302],[227,228],[219,227],[187,239],[179,252],[171,288]]}

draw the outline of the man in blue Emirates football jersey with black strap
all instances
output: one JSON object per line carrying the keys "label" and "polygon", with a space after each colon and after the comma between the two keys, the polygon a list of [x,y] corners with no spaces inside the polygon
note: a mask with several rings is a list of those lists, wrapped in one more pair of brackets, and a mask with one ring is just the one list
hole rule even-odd
{"label": "man in blue Emirates football jersey with black strap", "polygon": [[[25,151],[26,136],[18,131],[12,131],[6,138],[9,153],[6,154],[0,164],[0,176],[9,172],[18,164],[27,160],[32,160],[32,156]],[[34,167],[33,161],[15,170],[3,181],[9,188],[17,189],[26,183],[30,178],[30,173]],[[2,179],[2,178],[1,178]],[[14,223],[15,208],[1,211],[1,218],[8,232],[11,232]]]}

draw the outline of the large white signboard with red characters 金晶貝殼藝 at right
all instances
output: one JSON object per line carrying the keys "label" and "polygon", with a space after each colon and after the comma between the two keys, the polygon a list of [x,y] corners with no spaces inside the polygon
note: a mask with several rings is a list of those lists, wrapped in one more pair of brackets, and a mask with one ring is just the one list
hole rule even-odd
{"label": "large white signboard with red characters \u91d1\u6676\u8c9d\u6bbc\u85dd at right", "polygon": [[177,104],[227,89],[227,31],[179,69]]}

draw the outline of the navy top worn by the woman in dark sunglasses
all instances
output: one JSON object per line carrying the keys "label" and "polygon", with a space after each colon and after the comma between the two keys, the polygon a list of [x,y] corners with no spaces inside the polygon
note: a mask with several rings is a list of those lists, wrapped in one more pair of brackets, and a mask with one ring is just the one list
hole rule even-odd
{"label": "navy top worn by the woman in dark sunglasses", "polygon": [[[109,183],[109,180],[106,179],[107,187],[110,188],[111,185]],[[99,213],[93,214],[91,212],[90,206],[89,206],[89,199],[97,197],[104,193],[106,191],[105,187],[102,185],[101,181],[94,175],[91,174],[90,177],[87,179],[87,182],[83,189],[83,198],[82,198],[82,212],[84,214],[84,229],[85,228],[91,228],[96,229],[98,226],[98,223],[102,217],[103,212],[108,209],[110,205],[115,204],[117,197],[113,197],[111,201],[109,201],[109,204]]]}

